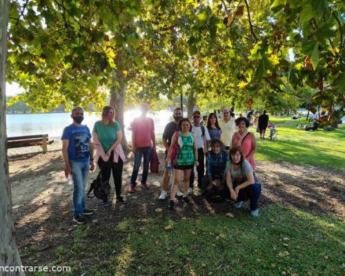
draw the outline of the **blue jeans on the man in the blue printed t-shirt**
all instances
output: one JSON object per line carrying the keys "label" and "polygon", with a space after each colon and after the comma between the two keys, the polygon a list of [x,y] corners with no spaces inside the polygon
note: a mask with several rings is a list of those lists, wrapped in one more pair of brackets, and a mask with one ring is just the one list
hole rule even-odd
{"label": "blue jeans on the man in the blue printed t-shirt", "polygon": [[81,215],[85,209],[85,188],[88,184],[88,171],[90,170],[90,161],[70,160],[70,168],[73,175],[75,189],[73,191],[73,213]]}

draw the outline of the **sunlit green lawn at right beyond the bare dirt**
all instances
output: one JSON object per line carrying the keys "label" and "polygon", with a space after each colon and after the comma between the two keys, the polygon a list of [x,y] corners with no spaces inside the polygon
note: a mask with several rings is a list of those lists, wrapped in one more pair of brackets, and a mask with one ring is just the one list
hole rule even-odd
{"label": "sunlit green lawn at right beyond the bare dirt", "polygon": [[[278,139],[270,141],[259,139],[257,135],[257,152],[255,159],[270,161],[287,161],[291,164],[322,166],[345,170],[345,125],[333,131],[296,130],[298,124],[311,124],[304,119],[274,118]],[[255,131],[251,128],[251,131]],[[269,130],[267,130],[268,136]]]}

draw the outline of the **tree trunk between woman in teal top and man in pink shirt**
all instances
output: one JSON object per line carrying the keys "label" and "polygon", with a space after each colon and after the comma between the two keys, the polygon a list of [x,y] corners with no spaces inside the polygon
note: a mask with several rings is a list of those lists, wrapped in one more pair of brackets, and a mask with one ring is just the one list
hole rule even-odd
{"label": "tree trunk between woman in teal top and man in pink shirt", "polygon": [[119,88],[119,94],[112,93],[110,95],[110,106],[114,106],[115,108],[115,118],[119,122],[122,133],[124,134],[122,136],[121,146],[124,148],[124,150],[128,150],[128,143],[125,135],[125,125],[124,125],[124,105],[125,105],[125,93],[127,88],[127,83],[124,81],[120,81],[120,88]]}

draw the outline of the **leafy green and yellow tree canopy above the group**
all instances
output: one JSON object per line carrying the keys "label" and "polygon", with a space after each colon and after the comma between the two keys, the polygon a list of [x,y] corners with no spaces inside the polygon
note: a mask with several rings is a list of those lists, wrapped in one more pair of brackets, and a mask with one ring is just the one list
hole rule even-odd
{"label": "leafy green and yellow tree canopy above the group", "polygon": [[180,93],[206,106],[345,106],[344,2],[13,2],[8,76],[42,110]]}

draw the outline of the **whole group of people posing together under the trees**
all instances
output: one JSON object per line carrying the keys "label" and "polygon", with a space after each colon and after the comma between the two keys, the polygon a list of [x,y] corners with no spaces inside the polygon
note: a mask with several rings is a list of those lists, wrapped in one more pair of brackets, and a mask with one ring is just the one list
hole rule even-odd
{"label": "whole group of people posing together under the trees", "polygon": [[[147,117],[148,110],[146,103],[141,104],[141,116],[132,122],[134,166],[130,178],[130,193],[137,191],[141,159],[144,159],[141,187],[148,188],[150,155],[156,147],[155,124]],[[74,182],[73,221],[83,224],[86,222],[85,216],[93,213],[93,210],[88,210],[85,206],[85,188],[89,170],[95,170],[94,150],[97,153],[95,158],[101,170],[101,179],[109,181],[112,174],[119,202],[126,201],[121,195],[126,156],[121,147],[121,126],[115,121],[115,108],[103,108],[101,120],[95,123],[92,135],[89,128],[81,124],[82,108],[73,108],[70,116],[73,122],[63,130],[62,151],[65,175],[72,176]],[[180,108],[175,108],[174,120],[166,125],[163,134],[166,167],[159,199],[168,198],[168,184],[173,172],[168,208],[175,208],[176,196],[182,197],[185,204],[189,203],[188,195],[194,193],[196,168],[197,187],[206,197],[233,199],[236,208],[241,208],[242,202],[249,199],[250,214],[254,217],[259,215],[257,201],[261,185],[254,174],[254,154],[257,149],[255,135],[248,131],[250,123],[245,117],[234,117],[233,110],[224,109],[221,119],[218,120],[215,113],[210,113],[206,124],[201,124],[199,110],[193,112],[190,121],[183,117]],[[183,188],[180,189],[182,182]],[[103,201],[102,204],[108,206],[108,201]]]}

